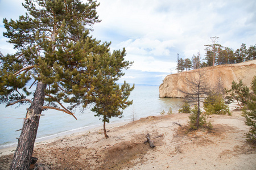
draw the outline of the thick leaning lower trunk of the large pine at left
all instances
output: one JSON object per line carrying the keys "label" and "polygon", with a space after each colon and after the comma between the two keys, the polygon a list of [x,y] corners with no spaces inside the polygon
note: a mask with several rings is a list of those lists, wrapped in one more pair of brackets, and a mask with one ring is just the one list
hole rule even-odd
{"label": "thick leaning lower trunk of the large pine at left", "polygon": [[42,112],[45,89],[46,84],[38,82],[34,100],[32,101],[30,108],[28,108],[10,169],[29,169],[30,167],[40,119],[40,116],[36,115],[41,114]]}

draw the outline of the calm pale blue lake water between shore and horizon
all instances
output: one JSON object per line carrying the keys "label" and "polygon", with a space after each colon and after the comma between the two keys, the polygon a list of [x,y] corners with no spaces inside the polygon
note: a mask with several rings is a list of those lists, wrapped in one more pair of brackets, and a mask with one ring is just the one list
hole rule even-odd
{"label": "calm pale blue lake water between shore and horizon", "polygon": [[[163,110],[167,112],[170,107],[173,112],[177,112],[183,103],[181,99],[159,98],[158,86],[138,86],[136,84],[129,100],[133,100],[133,105],[123,111],[122,118],[112,118],[110,123],[131,121],[133,113],[138,120],[142,117],[159,115]],[[22,128],[26,108],[29,105],[21,105],[16,108],[17,105],[6,108],[4,104],[0,104],[0,148],[18,143],[16,138],[19,137],[20,131],[15,130]],[[75,112],[77,120],[67,113],[52,109],[44,111],[42,114],[45,116],[40,118],[37,140],[103,125],[99,117],[94,117],[95,113],[91,112],[90,109],[86,109],[84,113]]]}

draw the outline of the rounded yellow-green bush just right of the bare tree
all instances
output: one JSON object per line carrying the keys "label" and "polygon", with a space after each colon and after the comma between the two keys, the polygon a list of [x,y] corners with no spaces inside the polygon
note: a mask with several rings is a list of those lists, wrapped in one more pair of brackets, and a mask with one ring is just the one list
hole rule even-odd
{"label": "rounded yellow-green bush just right of the bare tree", "polygon": [[229,116],[232,114],[221,95],[209,95],[204,100],[203,107],[207,114],[228,114]]}

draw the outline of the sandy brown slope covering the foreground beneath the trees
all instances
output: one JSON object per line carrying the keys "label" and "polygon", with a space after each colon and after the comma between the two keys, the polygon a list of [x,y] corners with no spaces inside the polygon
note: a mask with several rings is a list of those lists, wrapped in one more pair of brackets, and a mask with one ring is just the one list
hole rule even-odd
{"label": "sandy brown slope covering the foreground beneath the trees", "polygon": [[[256,146],[246,141],[241,112],[211,115],[212,130],[189,133],[188,116],[110,124],[108,139],[102,127],[49,139],[35,144],[33,156],[50,169],[256,169]],[[147,134],[155,148],[144,144]],[[0,150],[0,169],[9,169],[14,150]]]}

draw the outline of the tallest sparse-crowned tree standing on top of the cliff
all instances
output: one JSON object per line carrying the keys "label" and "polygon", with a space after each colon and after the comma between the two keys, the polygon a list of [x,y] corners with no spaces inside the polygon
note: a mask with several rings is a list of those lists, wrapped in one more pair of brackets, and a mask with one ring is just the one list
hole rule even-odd
{"label": "tallest sparse-crowned tree standing on top of the cliff", "polygon": [[222,46],[217,44],[218,37],[210,37],[212,44],[204,45],[206,46],[206,60],[208,61],[208,66],[215,66],[215,62],[218,58],[218,53],[220,53]]}

